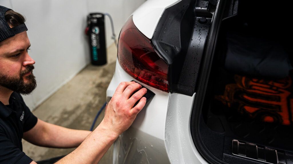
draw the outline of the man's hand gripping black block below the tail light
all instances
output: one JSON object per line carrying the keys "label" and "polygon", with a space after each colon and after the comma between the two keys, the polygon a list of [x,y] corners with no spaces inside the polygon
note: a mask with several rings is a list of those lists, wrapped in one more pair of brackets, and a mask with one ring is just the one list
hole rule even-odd
{"label": "man's hand gripping black block below the tail light", "polygon": [[[101,125],[117,135],[127,130],[146,104],[147,99],[142,96],[147,93],[147,89],[141,88],[142,86],[134,81],[120,83],[107,106]],[[137,92],[134,93],[135,91]]]}

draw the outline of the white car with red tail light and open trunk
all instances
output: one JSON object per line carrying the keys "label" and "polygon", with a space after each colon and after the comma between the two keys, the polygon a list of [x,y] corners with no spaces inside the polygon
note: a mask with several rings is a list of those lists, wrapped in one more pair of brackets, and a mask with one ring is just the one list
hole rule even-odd
{"label": "white car with red tail light and open trunk", "polygon": [[292,50],[275,42],[290,27],[267,37],[280,25],[270,21],[286,21],[290,10],[266,12],[272,6],[252,0],[140,6],[120,32],[107,100],[132,80],[154,96],[114,143],[113,163],[293,163]]}

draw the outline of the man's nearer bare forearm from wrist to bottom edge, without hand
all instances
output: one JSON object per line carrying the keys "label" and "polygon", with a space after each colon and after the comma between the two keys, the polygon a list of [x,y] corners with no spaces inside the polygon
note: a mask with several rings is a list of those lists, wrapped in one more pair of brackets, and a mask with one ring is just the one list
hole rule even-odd
{"label": "man's nearer bare forearm from wrist to bottom edge, without hand", "polygon": [[98,163],[119,134],[103,125],[103,122],[73,152],[56,164]]}

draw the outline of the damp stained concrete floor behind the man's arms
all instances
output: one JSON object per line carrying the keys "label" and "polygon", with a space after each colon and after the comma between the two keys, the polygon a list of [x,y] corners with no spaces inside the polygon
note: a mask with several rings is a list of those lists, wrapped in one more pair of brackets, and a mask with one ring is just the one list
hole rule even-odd
{"label": "damp stained concrete floor behind the man's arms", "polygon": [[[85,67],[79,74],[49,97],[33,114],[43,121],[72,129],[89,130],[91,124],[106,102],[106,90],[115,70],[117,49],[112,44],[108,50],[108,64]],[[97,123],[102,121],[104,111]],[[35,146],[23,140],[23,151],[33,160],[66,155],[74,149],[54,149]],[[113,147],[100,160],[100,164],[112,163]]]}

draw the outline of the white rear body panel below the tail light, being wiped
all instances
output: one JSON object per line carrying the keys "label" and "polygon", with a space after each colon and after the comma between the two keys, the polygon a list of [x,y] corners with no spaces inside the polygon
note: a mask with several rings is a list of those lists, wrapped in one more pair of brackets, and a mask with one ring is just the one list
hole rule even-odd
{"label": "white rear body panel below the tail light, being wiped", "polygon": [[[116,62],[115,74],[107,89],[112,97],[122,81],[136,81]],[[138,82],[140,83],[140,82]],[[165,122],[169,93],[141,83],[156,95],[137,115],[131,127],[114,143],[114,163],[170,163],[166,152]]]}

